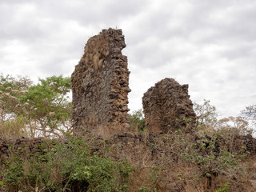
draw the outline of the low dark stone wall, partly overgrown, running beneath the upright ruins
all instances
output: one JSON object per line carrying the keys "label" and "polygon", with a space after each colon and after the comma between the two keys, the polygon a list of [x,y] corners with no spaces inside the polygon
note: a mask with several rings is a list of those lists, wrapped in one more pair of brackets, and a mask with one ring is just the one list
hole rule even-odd
{"label": "low dark stone wall, partly overgrown, running beneath the upright ruins", "polygon": [[[191,135],[192,136],[192,135]],[[143,155],[147,153],[147,158],[158,162],[158,158],[162,157],[162,154],[171,154],[171,150],[167,149],[167,146],[171,146],[170,143],[172,139],[166,140],[165,142],[170,142],[169,144],[163,143],[163,138],[172,138],[173,134],[162,134],[160,132],[154,134],[114,134],[107,140],[102,137],[86,137],[84,141],[87,143],[93,143],[91,145],[91,152],[99,151],[104,147],[112,147],[111,156],[112,158],[118,160],[122,157],[130,158],[130,162],[138,165],[143,162]],[[194,134],[192,136],[194,141],[200,143],[202,141],[210,142],[212,138],[209,135],[204,137],[199,137]],[[207,139],[206,139],[207,138]],[[231,138],[231,137],[230,137]],[[250,155],[256,154],[256,138],[253,138],[250,134],[243,135],[233,135],[232,140],[230,138],[220,138],[216,145],[216,152],[219,149],[225,148],[228,151],[235,152],[237,154],[244,153],[246,151],[250,152]],[[202,140],[203,139],[203,140]],[[55,140],[54,140],[55,141]],[[45,153],[44,149],[49,148],[54,145],[54,141],[45,138],[4,138],[0,137],[0,160],[4,157],[8,157],[11,154],[22,154],[27,158],[27,154]],[[66,143],[65,139],[58,140],[55,142]],[[206,142],[206,146],[209,143]],[[244,151],[241,151],[242,146],[244,146]],[[198,146],[199,147],[199,146]],[[114,151],[114,153],[113,153]],[[139,160],[138,160],[139,159]]]}

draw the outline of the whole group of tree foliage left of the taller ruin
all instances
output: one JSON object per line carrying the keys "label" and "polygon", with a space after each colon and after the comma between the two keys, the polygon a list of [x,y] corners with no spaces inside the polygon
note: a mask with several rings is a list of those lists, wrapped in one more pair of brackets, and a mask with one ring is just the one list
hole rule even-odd
{"label": "whole group of tree foliage left of the taller ruin", "polygon": [[[33,85],[29,78],[0,75],[0,129],[5,136],[57,136],[70,131],[70,78],[52,76]],[[10,130],[10,131],[8,131]]]}

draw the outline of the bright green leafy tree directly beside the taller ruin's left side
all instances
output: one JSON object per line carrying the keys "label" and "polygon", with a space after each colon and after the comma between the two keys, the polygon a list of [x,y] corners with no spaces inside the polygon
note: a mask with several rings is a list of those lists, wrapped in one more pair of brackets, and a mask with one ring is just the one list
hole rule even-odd
{"label": "bright green leafy tree directly beside the taller ruin's left side", "polygon": [[63,129],[70,129],[69,92],[70,78],[61,75],[39,78],[39,83],[30,86],[28,92],[22,95],[22,105],[26,105],[24,114],[36,124],[44,137],[49,134],[59,136]]}

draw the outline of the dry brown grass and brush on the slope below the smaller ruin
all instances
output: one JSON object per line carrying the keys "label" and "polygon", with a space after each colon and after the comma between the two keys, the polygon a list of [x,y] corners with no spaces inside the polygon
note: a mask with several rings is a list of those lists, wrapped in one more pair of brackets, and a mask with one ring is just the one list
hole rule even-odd
{"label": "dry brown grass and brush on the slope below the smaller ruin", "polygon": [[[213,130],[214,133],[214,130]],[[215,130],[216,133],[216,130]],[[142,134],[138,142],[138,134],[131,134],[127,142],[118,142],[114,140],[109,155],[115,159],[126,159],[137,170],[131,175],[131,191],[187,191],[187,192],[214,192],[224,184],[230,183],[230,191],[254,191],[250,184],[249,172],[256,173],[255,156],[249,156],[245,160],[234,157],[238,165],[233,165],[234,170],[224,168],[219,174],[212,175],[210,178],[203,174],[204,165],[198,165],[191,160],[186,161],[182,157],[182,150],[190,148],[195,142],[193,134],[160,134],[149,139],[148,134]],[[227,135],[232,138],[232,135]],[[223,135],[223,137],[227,137]],[[137,138],[136,138],[137,137]],[[178,137],[180,137],[178,139]],[[226,146],[223,149],[230,149],[230,152],[236,152],[241,143],[235,143],[234,139],[226,140]],[[238,145],[232,147],[232,145]],[[190,148],[187,153],[198,153],[196,149]],[[198,154],[199,155],[199,154]],[[202,155],[202,154],[200,154]],[[225,154],[223,154],[225,155]],[[202,156],[203,157],[203,156]],[[218,156],[210,160],[212,166],[218,163]],[[224,157],[229,159],[228,157]],[[232,158],[230,158],[232,160]],[[214,162],[216,161],[216,162]],[[208,164],[205,166],[208,167]],[[246,168],[247,166],[247,168]],[[206,168],[207,168],[206,167]],[[214,169],[214,168],[212,168]],[[231,169],[233,169],[231,167]],[[237,170],[235,170],[237,169]],[[227,171],[227,172],[225,172]],[[144,186],[145,188],[141,188]],[[141,188],[141,190],[139,190]]]}

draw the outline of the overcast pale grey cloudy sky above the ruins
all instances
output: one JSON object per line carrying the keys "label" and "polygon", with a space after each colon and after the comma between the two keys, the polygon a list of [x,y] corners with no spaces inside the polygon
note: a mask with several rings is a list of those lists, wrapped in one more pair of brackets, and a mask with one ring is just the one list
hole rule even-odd
{"label": "overcast pale grey cloudy sky above the ruins", "polygon": [[223,116],[256,104],[255,0],[0,0],[0,72],[70,76],[91,36],[121,28],[130,110],[162,78]]}

